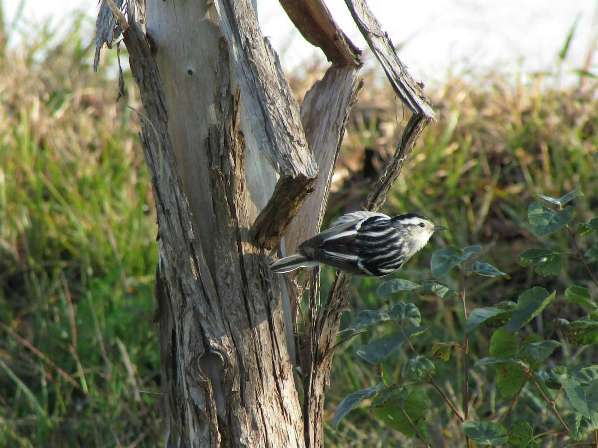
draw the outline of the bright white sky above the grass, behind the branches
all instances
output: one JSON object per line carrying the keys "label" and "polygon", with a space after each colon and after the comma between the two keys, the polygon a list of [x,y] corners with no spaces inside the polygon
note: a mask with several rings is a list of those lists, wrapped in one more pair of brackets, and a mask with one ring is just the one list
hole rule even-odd
{"label": "bright white sky above the grass, behind the branches", "polygon": [[[366,50],[344,0],[325,2],[341,29]],[[2,2],[9,24],[20,4]],[[416,79],[425,82],[441,80],[451,65],[457,73],[459,68],[478,65],[528,72],[554,70],[557,54],[576,20],[564,69],[580,69],[598,32],[596,0],[368,0],[368,4],[395,47],[404,44],[398,52],[401,60]],[[34,22],[50,17],[53,23],[65,23],[73,10],[84,10],[94,20],[97,0],[26,0],[24,13]],[[295,30],[277,0],[258,0],[258,11],[264,35],[278,51],[285,70],[322,57]],[[598,72],[598,55],[594,55],[591,71]]]}

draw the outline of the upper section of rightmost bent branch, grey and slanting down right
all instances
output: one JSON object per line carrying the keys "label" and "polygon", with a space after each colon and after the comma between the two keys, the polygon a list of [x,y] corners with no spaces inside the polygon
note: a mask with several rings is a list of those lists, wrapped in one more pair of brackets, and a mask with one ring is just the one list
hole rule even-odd
{"label": "upper section of rightmost bent branch, grey and slanting down right", "polygon": [[353,20],[359,31],[370,45],[371,51],[382,65],[390,85],[395,90],[401,101],[413,113],[421,113],[429,119],[436,119],[434,109],[423,94],[422,87],[413,81],[407,67],[399,60],[395,47],[387,33],[382,30],[380,22],[376,19],[365,0],[345,0]]}

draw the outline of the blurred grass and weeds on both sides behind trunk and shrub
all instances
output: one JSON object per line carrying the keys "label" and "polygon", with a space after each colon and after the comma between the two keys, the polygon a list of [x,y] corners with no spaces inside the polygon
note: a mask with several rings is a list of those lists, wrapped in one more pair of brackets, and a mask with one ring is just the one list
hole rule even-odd
{"label": "blurred grass and weeds on both sides behind trunk and shrub", "polygon": [[[155,446],[163,440],[157,327],[150,323],[155,210],[136,136],[138,118],[125,107],[138,108],[139,102],[128,73],[128,95],[115,102],[114,51],[92,73],[91,39],[80,32],[83,20],[75,18],[68,35],[50,26],[30,29],[18,48],[7,45],[11,30],[0,28],[2,446]],[[596,69],[580,67],[576,82],[562,81],[558,61],[566,59],[569,41],[563,36],[563,51],[546,72],[471,69],[426,88],[438,122],[424,131],[383,211],[419,211],[451,232],[434,237],[391,277],[429,278],[434,248],[481,244],[480,260],[512,278],[469,283],[471,309],[515,299],[533,285],[557,294],[572,283],[591,287],[575,260],[548,279],[515,262],[527,247],[572,251],[564,234],[539,240],[530,232],[526,211],[534,194],[559,197],[578,188],[585,196],[575,200],[577,222],[598,211]],[[298,99],[324,70],[314,63],[304,70],[309,76],[289,73]],[[344,139],[328,220],[360,207],[408,119],[380,73],[362,75],[365,88]],[[598,271],[596,260],[590,267]],[[323,272],[326,287],[333,271]],[[353,280],[345,324],[363,308],[384,306],[375,294],[381,282]],[[405,294],[401,300],[416,303],[432,326],[417,340],[422,354],[435,342],[463,339],[457,299]],[[549,312],[567,318],[558,305],[557,299]],[[381,375],[389,381],[398,375],[401,353],[386,361],[383,373],[357,357],[355,349],[370,339],[371,333],[358,337],[335,356],[327,395],[329,446],[404,443],[366,406],[338,429],[329,426],[349,392],[373,385]],[[487,345],[482,331],[470,351],[486,356]],[[595,361],[596,350],[561,356]],[[462,378],[459,362],[435,361],[449,394]],[[472,369],[471,412],[493,412],[495,394],[494,379]],[[451,446],[460,429],[438,396],[429,395],[435,416],[429,432]],[[550,426],[542,403],[523,402],[538,425]]]}

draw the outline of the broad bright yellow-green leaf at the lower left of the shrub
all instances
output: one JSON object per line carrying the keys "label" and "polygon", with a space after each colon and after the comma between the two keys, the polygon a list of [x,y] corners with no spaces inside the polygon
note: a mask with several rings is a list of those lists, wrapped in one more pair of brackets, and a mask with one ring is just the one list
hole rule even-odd
{"label": "broad bright yellow-green leaf at the lower left of the shrub", "polygon": [[386,400],[378,406],[372,404],[372,407],[374,414],[380,420],[407,437],[415,437],[416,431],[405,417],[405,413],[416,428],[422,434],[426,434],[425,418],[430,409],[430,399],[422,389],[415,389],[404,400]]}

